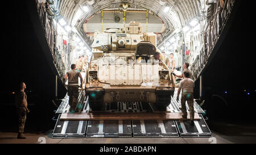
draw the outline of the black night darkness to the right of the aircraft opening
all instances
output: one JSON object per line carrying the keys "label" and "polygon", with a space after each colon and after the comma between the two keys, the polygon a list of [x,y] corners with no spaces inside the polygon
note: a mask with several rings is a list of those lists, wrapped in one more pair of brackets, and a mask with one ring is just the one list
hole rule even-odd
{"label": "black night darkness to the right of the aircraft opening", "polygon": [[[205,108],[212,119],[254,120],[255,16],[254,3],[240,1],[230,29],[203,74]],[[226,91],[226,93],[225,93]],[[249,93],[249,95],[247,94]],[[212,97],[219,95],[226,100]]]}

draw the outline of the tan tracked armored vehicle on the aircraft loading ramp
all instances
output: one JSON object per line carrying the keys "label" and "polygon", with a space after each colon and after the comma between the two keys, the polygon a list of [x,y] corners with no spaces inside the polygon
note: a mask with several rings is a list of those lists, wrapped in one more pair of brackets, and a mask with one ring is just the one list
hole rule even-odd
{"label": "tan tracked armored vehicle on the aircraft loading ramp", "polygon": [[159,52],[155,33],[143,33],[139,23],[95,32],[85,79],[92,111],[123,101],[147,102],[165,111],[174,94],[174,80],[162,53],[155,58],[155,52]]}

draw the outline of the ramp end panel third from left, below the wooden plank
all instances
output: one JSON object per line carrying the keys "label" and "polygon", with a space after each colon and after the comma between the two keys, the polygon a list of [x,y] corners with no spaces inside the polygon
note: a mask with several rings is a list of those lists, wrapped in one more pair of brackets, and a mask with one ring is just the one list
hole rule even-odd
{"label": "ramp end panel third from left, below the wooden plank", "polygon": [[133,120],[134,137],[179,137],[173,120]]}

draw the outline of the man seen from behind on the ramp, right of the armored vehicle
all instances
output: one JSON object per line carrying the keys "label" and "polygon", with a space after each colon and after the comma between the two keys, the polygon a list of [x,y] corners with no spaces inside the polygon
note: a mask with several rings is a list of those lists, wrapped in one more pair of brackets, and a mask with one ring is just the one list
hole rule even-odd
{"label": "man seen from behind on the ramp, right of the armored vehicle", "polygon": [[186,108],[186,101],[188,102],[191,125],[194,125],[194,100],[193,100],[193,90],[194,90],[194,81],[189,77],[189,72],[183,72],[183,80],[180,81],[179,89],[177,92],[177,102],[179,101],[180,90],[182,89],[181,94],[181,111],[183,112],[182,117],[187,119],[187,108]]}

